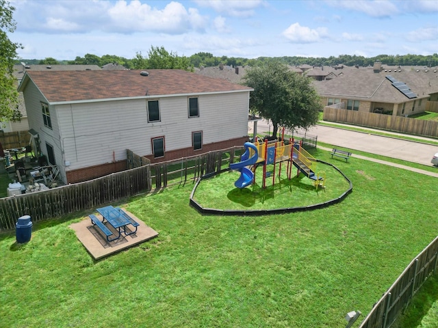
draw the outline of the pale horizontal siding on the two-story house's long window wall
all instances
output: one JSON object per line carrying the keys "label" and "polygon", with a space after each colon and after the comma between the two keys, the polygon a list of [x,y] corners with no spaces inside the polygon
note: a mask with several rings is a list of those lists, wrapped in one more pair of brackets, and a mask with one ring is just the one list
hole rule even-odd
{"label": "pale horizontal siding on the two-story house's long window wall", "polygon": [[165,137],[166,151],[192,147],[192,132],[203,143],[247,135],[248,92],[198,96],[199,117],[188,118],[188,97],[159,98],[161,122],[147,122],[147,100],[57,105],[66,169],[126,159],[129,148],[151,154],[151,138]]}

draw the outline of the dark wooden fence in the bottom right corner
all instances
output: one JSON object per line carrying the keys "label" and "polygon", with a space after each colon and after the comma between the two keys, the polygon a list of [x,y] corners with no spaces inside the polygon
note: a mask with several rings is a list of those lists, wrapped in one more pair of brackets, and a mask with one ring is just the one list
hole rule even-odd
{"label": "dark wooden fence in the bottom right corner", "polygon": [[396,282],[383,294],[359,328],[391,328],[430,275],[437,273],[438,237],[404,269]]}

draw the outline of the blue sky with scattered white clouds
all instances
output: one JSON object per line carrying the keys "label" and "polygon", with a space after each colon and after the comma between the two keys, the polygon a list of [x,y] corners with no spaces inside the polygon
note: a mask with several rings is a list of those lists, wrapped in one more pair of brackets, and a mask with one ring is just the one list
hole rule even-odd
{"label": "blue sky with scattered white clouds", "polygon": [[10,0],[25,59],[91,53],[330,57],[438,53],[437,0]]}

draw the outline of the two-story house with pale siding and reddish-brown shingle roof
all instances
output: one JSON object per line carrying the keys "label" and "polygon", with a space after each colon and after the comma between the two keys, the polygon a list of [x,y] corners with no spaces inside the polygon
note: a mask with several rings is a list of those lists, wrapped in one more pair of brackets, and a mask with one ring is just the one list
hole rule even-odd
{"label": "two-story house with pale siding and reddish-brown shingle roof", "polygon": [[184,70],[27,70],[18,87],[65,183],[126,169],[127,149],[154,163],[242,146],[251,90]]}

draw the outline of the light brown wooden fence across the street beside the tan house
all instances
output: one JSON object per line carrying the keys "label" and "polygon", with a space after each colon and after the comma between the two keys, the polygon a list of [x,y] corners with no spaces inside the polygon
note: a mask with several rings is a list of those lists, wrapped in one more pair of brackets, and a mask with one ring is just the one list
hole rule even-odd
{"label": "light brown wooden fence across the street beside the tan house", "polygon": [[363,111],[348,111],[324,107],[323,119],[331,122],[342,122],[371,128],[381,128],[389,131],[398,131],[410,135],[424,135],[438,137],[438,122],[415,120],[402,116],[391,116]]}

